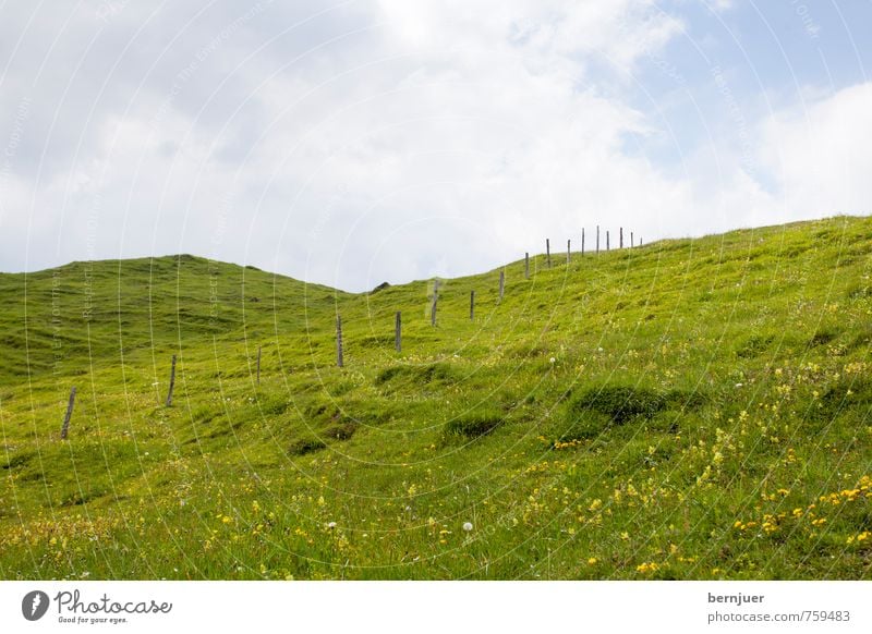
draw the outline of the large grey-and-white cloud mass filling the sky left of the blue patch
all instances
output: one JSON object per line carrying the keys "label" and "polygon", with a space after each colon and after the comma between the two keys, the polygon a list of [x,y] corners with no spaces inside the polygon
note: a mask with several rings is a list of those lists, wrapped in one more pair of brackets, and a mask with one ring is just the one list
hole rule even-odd
{"label": "large grey-and-white cloud mass filling the sky left of the blue patch", "polygon": [[[35,118],[61,123],[32,137],[40,179],[16,174],[34,190],[29,267],[186,251],[363,289],[477,271],[606,218],[653,227],[639,209],[683,195],[623,155],[646,123],[608,78],[676,33],[653,2],[384,0],[289,31],[272,5],[150,26],[88,11],[66,31],[37,16],[55,34],[48,68],[92,72],[37,86]],[[123,33],[136,46],[119,58]]]}

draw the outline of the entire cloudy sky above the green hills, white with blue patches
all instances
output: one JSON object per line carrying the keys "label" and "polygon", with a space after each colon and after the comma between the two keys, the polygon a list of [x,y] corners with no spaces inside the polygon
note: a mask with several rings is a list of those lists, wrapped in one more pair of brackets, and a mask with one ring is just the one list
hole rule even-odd
{"label": "entire cloudy sky above the green hills, white with blue patches", "polygon": [[2,2],[0,271],[189,253],[365,291],[597,224],[867,215],[870,26],[870,0]]}

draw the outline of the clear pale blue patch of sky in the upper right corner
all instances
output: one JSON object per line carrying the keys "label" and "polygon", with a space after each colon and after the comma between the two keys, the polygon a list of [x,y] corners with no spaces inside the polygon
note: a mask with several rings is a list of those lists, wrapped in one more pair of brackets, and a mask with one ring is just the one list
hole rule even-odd
{"label": "clear pale blue patch of sky in the upper right corner", "polygon": [[658,106],[685,146],[704,135],[703,124],[730,124],[712,69],[720,68],[749,120],[770,109],[803,102],[809,93],[833,95],[869,81],[872,2],[677,2],[683,33],[654,58],[644,58],[633,103]]}

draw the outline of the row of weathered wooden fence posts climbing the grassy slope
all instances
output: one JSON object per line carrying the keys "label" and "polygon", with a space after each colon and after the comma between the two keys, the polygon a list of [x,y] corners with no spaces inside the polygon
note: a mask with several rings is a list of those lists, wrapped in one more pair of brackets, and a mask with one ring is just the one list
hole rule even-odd
{"label": "row of weathered wooden fence posts climbing the grassy slope", "polygon": [[[623,248],[623,228],[619,229],[618,233],[618,246]],[[630,232],[630,248],[634,246],[642,246],[642,239],[639,239],[639,244],[637,245],[633,237],[633,232]],[[606,251],[609,251],[609,233],[606,231]],[[596,253],[600,253],[600,225],[596,225]],[[584,229],[581,230],[581,255],[584,256]],[[569,264],[572,258],[572,241],[566,241],[566,261]],[[548,268],[552,268],[552,243],[549,239],[545,240],[545,261]],[[524,279],[530,279],[530,253],[524,253]],[[506,294],[506,271],[499,271],[499,301],[502,301],[502,297]],[[429,320],[431,326],[436,326],[436,312],[438,307],[439,301],[439,280],[434,280],[433,282],[433,301],[431,303],[431,310],[429,310]],[[475,291],[470,291],[470,320],[475,320]],[[402,313],[397,310],[393,320],[393,348],[397,352],[402,352]],[[261,355],[262,355],[262,346],[257,346],[257,385],[261,385]],[[175,355],[172,355],[172,362],[170,365],[170,383],[169,388],[167,389],[167,400],[166,406],[172,406],[172,391],[175,387]],[[342,317],[337,315],[336,316],[336,365],[338,367],[344,367],[344,350],[342,344]],[[65,440],[69,432],[70,432],[70,419],[73,416],[73,407],[75,405],[75,394],[76,389],[73,386],[72,390],[70,391],[70,401],[66,404],[66,413],[63,416],[63,424],[61,426],[61,440]]]}

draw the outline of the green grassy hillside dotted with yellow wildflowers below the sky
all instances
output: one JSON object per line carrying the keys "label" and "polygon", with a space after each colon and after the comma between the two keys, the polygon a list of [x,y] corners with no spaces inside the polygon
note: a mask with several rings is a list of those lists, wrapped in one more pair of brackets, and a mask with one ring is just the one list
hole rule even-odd
{"label": "green grassy hillside dotted with yellow wildflowers below the sky", "polygon": [[433,280],[0,275],[0,577],[869,578],[870,248],[836,218],[540,255],[501,301],[440,280],[436,327]]}

